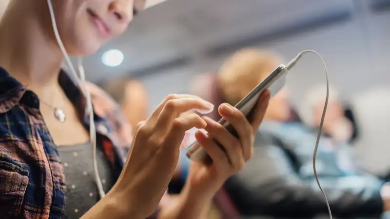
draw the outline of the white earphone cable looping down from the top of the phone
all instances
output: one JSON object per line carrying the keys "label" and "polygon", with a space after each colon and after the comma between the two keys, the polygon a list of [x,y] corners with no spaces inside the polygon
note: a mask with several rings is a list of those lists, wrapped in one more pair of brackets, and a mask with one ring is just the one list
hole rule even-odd
{"label": "white earphone cable looping down from the top of the phone", "polygon": [[298,55],[292,59],[287,65],[286,65],[286,68],[287,69],[291,69],[297,62],[298,60],[302,57],[303,54],[305,53],[314,53],[316,54],[322,61],[322,63],[324,64],[324,69],[325,69],[325,77],[326,77],[326,98],[325,98],[325,104],[324,104],[324,110],[322,111],[322,116],[321,116],[321,122],[320,122],[320,126],[319,126],[319,130],[318,130],[318,134],[317,134],[317,140],[315,142],[315,147],[314,147],[314,153],[313,153],[313,172],[314,172],[314,177],[315,177],[315,180],[317,181],[317,185],[318,187],[320,188],[322,194],[324,195],[324,198],[325,198],[325,201],[326,201],[326,205],[328,207],[328,212],[329,212],[329,218],[332,219],[332,213],[331,213],[331,206],[329,205],[329,201],[328,201],[328,198],[326,197],[326,194],[325,194],[325,191],[322,189],[321,187],[321,184],[320,184],[320,181],[318,179],[318,175],[317,175],[317,169],[315,168],[315,159],[317,157],[317,150],[318,150],[318,144],[320,142],[320,138],[321,138],[321,133],[322,133],[322,126],[324,124],[324,119],[325,119],[325,114],[326,114],[326,109],[328,107],[328,100],[329,100],[329,79],[328,79],[328,68],[326,67],[326,64],[325,64],[325,61],[324,59],[321,57],[321,55],[319,53],[317,53],[316,51],[314,50],[304,50],[300,53],[298,53]]}

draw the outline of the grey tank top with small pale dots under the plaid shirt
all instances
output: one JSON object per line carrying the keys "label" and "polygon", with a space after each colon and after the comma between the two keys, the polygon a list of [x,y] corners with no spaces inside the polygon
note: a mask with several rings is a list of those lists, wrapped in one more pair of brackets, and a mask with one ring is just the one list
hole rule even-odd
{"label": "grey tank top with small pale dots under the plaid shirt", "polygon": [[[91,143],[59,146],[59,157],[66,179],[65,219],[78,219],[99,200],[95,183]],[[112,166],[103,151],[97,149],[98,172],[107,193],[115,183]]]}

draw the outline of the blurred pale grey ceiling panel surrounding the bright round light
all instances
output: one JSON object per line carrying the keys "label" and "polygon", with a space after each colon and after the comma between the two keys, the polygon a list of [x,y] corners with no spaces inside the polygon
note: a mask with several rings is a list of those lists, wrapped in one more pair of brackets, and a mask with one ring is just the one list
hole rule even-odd
{"label": "blurred pale grey ceiling panel surrounding the bright round light", "polygon": [[[159,68],[229,53],[253,41],[348,19],[352,0],[167,0],[151,7],[127,32],[84,60],[87,78],[147,74]],[[102,53],[119,49],[124,62],[106,67]]]}

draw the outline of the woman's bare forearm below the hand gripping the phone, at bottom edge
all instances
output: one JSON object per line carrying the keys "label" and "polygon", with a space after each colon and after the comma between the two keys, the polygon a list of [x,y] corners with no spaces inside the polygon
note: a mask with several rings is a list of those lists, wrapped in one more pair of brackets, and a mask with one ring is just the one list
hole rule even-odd
{"label": "woman's bare forearm below the hand gripping the phone, at bottom edge", "polygon": [[184,186],[181,194],[161,209],[158,219],[205,219],[213,196],[214,194],[202,194]]}

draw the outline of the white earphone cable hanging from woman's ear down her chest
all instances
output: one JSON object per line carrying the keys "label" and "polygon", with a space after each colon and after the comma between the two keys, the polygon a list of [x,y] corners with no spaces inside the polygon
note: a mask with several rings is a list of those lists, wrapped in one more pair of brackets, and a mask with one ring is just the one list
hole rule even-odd
{"label": "white earphone cable hanging from woman's ear down her chest", "polygon": [[95,180],[96,180],[96,184],[98,186],[98,192],[99,192],[100,199],[102,199],[105,196],[105,193],[104,193],[103,185],[102,185],[100,177],[99,177],[97,158],[96,158],[96,149],[97,148],[96,148],[96,128],[95,128],[95,121],[94,121],[94,110],[93,110],[93,106],[92,106],[91,94],[89,92],[88,87],[85,84],[84,68],[82,66],[81,58],[79,58],[78,59],[78,70],[79,70],[79,74],[80,74],[80,78],[79,78],[77,73],[76,73],[76,70],[72,64],[72,61],[70,60],[69,55],[66,52],[65,46],[63,45],[62,40],[59,36],[59,31],[58,31],[57,22],[56,22],[56,16],[54,14],[53,5],[52,5],[51,0],[47,0],[47,4],[49,6],[50,17],[51,17],[52,24],[53,24],[53,30],[54,30],[54,34],[56,36],[57,42],[59,44],[59,48],[61,49],[61,52],[64,56],[64,59],[67,62],[70,73],[73,75],[78,87],[81,89],[81,91],[84,93],[84,96],[87,99],[86,114],[89,116],[89,134],[90,134],[90,141],[92,144]]}

